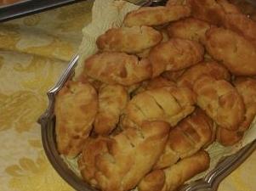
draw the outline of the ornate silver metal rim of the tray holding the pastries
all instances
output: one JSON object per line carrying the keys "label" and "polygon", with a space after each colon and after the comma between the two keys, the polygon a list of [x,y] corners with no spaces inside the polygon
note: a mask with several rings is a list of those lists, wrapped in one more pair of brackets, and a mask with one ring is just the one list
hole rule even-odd
{"label": "ornate silver metal rim of the tray holding the pastries", "polygon": [[[71,78],[74,74],[74,69],[77,65],[78,56],[76,55],[65,69],[60,80],[48,91],[48,109],[40,117],[38,122],[42,126],[42,140],[45,153],[48,156],[48,160],[51,162],[54,169],[59,172],[60,176],[69,183],[73,188],[78,191],[93,191],[96,190],[92,188],[88,183],[82,181],[80,177],[69,169],[65,162],[60,157],[58,153],[56,142],[55,142],[55,116],[54,116],[54,100],[57,93],[59,93],[61,87],[64,86],[65,81]],[[213,171],[210,171],[208,175],[202,179],[195,182],[189,183],[179,191],[215,191],[218,189],[219,183],[234,171],[237,166],[240,166],[247,157],[253,153],[256,149],[256,140],[253,143],[247,144],[243,149],[239,150],[236,154],[232,154],[223,158],[219,161],[219,164],[215,166]]]}

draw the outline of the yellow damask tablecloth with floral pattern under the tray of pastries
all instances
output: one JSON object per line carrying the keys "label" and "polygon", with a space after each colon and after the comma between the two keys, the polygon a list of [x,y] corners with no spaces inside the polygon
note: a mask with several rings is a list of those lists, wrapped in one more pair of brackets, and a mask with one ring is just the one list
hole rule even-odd
{"label": "yellow damask tablecloth with floral pattern under the tray of pastries", "polygon": [[[49,164],[39,115],[91,20],[92,2],[0,24],[0,191],[72,191]],[[219,191],[254,191],[256,152]]]}

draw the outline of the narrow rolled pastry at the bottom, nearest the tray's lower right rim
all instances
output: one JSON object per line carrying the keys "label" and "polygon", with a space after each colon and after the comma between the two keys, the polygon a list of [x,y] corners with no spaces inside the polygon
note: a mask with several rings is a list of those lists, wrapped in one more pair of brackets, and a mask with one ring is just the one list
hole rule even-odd
{"label": "narrow rolled pastry at the bottom, nearest the tray's lower right rim", "polygon": [[206,151],[199,151],[180,160],[174,166],[151,171],[139,183],[139,191],[174,191],[196,174],[206,171],[210,157]]}

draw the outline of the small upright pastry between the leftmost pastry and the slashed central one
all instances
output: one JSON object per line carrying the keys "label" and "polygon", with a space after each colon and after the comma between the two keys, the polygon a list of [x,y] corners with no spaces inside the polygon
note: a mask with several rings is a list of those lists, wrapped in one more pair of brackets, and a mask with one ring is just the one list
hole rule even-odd
{"label": "small upright pastry between the leftmost pastry and the slashed central one", "polygon": [[94,132],[107,135],[117,126],[128,103],[128,92],[120,85],[103,85],[99,90],[99,109],[94,120]]}

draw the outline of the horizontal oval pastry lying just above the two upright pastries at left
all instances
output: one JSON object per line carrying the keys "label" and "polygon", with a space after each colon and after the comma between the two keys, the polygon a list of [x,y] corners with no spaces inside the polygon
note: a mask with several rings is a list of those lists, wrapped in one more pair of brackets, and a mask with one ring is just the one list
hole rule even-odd
{"label": "horizontal oval pastry lying just above the two upright pastries at left", "polygon": [[127,53],[97,53],[85,60],[83,75],[107,84],[130,86],[151,77],[151,63]]}

